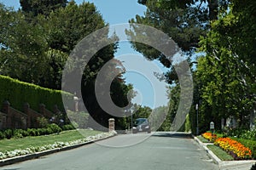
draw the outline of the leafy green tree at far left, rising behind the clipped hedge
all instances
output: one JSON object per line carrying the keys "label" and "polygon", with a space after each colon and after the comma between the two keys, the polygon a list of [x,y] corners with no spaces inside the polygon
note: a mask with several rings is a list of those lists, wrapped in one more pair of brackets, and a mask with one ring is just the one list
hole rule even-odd
{"label": "leafy green tree at far left, rising behind the clipped hedge", "polygon": [[[40,26],[28,24],[24,14],[0,5],[2,74],[39,83],[46,71],[47,42]],[[28,73],[29,72],[29,73]]]}

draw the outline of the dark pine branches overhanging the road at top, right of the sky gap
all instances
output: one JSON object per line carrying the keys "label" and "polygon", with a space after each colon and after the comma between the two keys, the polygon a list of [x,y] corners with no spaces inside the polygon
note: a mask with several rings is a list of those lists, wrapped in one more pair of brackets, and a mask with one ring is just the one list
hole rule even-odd
{"label": "dark pine branches overhanging the road at top, right of the sky gap", "polygon": [[[198,47],[199,37],[206,35],[209,19],[205,5],[190,0],[148,0],[145,5],[147,6],[145,16],[137,15],[130,22],[154,26],[164,31],[177,42],[183,52],[194,51],[195,47]],[[132,32],[130,33],[132,37]],[[153,48],[141,43],[133,42],[132,44],[133,48],[142,52],[148,59],[160,59],[161,57]]]}

